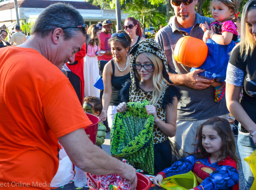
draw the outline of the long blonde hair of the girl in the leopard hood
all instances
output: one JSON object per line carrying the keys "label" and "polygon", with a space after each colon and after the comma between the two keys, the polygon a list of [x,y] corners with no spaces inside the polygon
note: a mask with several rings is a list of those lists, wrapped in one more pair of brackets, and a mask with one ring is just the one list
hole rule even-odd
{"label": "long blonde hair of the girl in the leopard hood", "polygon": [[[165,78],[163,77],[163,74],[162,74],[162,70],[165,68],[163,68],[162,59],[160,59],[155,54],[148,53],[148,52],[143,52],[142,54],[145,54],[145,56],[147,56],[154,65],[153,78],[152,78],[154,90],[153,90],[153,95],[152,95],[150,104],[153,106],[156,106],[161,96],[165,93],[165,88],[167,85],[167,82],[165,81]],[[141,79],[140,77],[138,78]]]}

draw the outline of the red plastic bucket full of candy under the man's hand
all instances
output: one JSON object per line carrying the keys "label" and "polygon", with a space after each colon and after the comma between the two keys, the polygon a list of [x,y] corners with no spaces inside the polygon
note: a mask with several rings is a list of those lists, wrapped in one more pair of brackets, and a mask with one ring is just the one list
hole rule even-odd
{"label": "red plastic bucket full of candy under the man's hand", "polygon": [[[136,172],[136,175],[137,175],[137,179],[138,179],[136,190],[148,190],[151,187],[151,184],[152,184],[151,180],[142,173]],[[92,177],[95,178],[95,175],[92,175]],[[91,183],[92,183],[91,179],[88,178],[87,185],[89,186],[89,188],[91,190],[98,190],[98,189],[95,189],[94,187],[92,187]]]}

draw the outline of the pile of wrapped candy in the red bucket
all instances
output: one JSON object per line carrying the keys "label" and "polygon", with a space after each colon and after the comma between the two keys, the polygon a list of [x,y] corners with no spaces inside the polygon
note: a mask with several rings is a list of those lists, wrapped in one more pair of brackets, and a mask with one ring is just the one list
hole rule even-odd
{"label": "pile of wrapped candy in the red bucket", "polygon": [[131,185],[117,174],[90,176],[89,186],[97,190],[128,190]]}

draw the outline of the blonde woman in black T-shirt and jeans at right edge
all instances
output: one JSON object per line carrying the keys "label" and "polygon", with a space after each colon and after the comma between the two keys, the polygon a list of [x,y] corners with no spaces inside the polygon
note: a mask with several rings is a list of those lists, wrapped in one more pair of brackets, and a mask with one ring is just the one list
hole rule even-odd
{"label": "blonde woman in black T-shirt and jeans at right edge", "polygon": [[[238,150],[246,189],[254,181],[250,166],[244,161],[256,150],[256,0],[248,1],[241,17],[241,40],[232,50],[226,73],[226,104],[239,121]],[[241,99],[239,98],[242,88]],[[240,102],[239,102],[240,101]]]}

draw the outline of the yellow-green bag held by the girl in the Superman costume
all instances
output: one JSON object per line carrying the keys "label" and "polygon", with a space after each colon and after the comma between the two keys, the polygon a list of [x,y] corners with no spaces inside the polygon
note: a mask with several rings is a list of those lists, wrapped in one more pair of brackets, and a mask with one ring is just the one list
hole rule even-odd
{"label": "yellow-green bag held by the girl in the Superman costume", "polygon": [[197,186],[196,176],[192,171],[185,174],[173,175],[159,183],[161,187],[168,190],[187,190]]}

